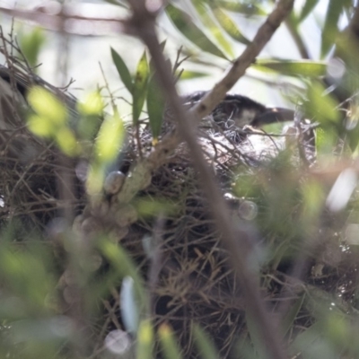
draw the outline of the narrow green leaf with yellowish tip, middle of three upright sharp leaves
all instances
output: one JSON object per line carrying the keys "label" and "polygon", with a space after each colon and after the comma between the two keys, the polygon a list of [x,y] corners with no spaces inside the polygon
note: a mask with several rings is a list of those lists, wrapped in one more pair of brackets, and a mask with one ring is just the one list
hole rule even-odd
{"label": "narrow green leaf with yellowish tip, middle of three upright sharp leaves", "polygon": [[146,98],[147,83],[149,77],[149,66],[147,62],[146,53],[141,57],[135,76],[135,83],[132,92],[132,118],[133,124],[136,126],[138,118],[140,118],[142,108],[144,107],[144,100]]}

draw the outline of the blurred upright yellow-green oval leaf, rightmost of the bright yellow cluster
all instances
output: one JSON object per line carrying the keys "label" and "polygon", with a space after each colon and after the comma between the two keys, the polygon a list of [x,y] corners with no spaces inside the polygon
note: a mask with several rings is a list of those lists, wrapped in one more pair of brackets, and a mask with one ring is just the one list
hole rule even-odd
{"label": "blurred upright yellow-green oval leaf, rightmost of the bright yellow cluster", "polygon": [[100,162],[112,162],[125,139],[125,127],[118,113],[105,118],[95,142],[95,154]]}

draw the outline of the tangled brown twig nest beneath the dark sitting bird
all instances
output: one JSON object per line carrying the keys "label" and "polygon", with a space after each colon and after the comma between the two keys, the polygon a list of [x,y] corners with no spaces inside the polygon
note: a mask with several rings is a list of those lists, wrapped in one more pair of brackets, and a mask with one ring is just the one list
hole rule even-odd
{"label": "tangled brown twig nest beneath the dark sitting bird", "polygon": [[[86,205],[83,183],[75,174],[81,159],[67,159],[53,144],[40,141],[23,126],[20,116],[22,110],[19,109],[26,108],[27,104],[22,88],[12,87],[11,79],[19,83],[19,79],[24,78],[26,85],[39,83],[39,79],[31,72],[15,67],[12,72],[5,68],[1,70],[8,76],[0,79],[0,196],[3,201],[0,218],[2,223],[13,220],[21,222],[26,233],[29,229],[43,231],[64,210],[69,208],[74,213],[81,213]],[[41,82],[41,85],[46,86],[46,83]],[[54,92],[53,88],[48,89]],[[57,96],[60,94],[61,98],[66,98],[66,104],[74,108],[74,99],[58,89],[55,92]],[[305,132],[305,125],[302,125],[302,129]],[[298,288],[286,292],[291,287],[288,268],[302,248],[295,238],[293,241],[287,240],[285,236],[288,232],[253,222],[256,217],[262,216],[265,219],[267,204],[264,197],[260,193],[249,193],[245,198],[235,197],[232,194],[233,183],[250,180],[256,184],[268,177],[272,179],[272,183],[275,180],[283,181],[288,179],[286,174],[283,175],[284,171],[292,171],[298,175],[297,163],[303,161],[303,158],[306,162],[312,162],[314,155],[311,150],[304,150],[302,153],[297,149],[283,152],[285,146],[292,145],[291,142],[285,140],[285,137],[278,139],[258,131],[249,130],[247,133],[241,132],[241,136],[233,136],[232,129],[225,132],[215,127],[200,128],[198,138],[206,160],[223,189],[223,197],[227,198],[228,206],[232,208],[233,223],[248,227],[253,232],[253,238],[258,239],[258,248],[280,248],[284,241],[287,243],[285,249],[290,252],[288,256],[285,251],[279,257],[273,255],[261,268],[263,296],[275,311],[279,302],[290,301],[293,296],[299,298],[302,295],[302,289]],[[143,155],[146,154],[146,149],[151,151],[151,141],[149,132],[144,129],[141,135]],[[139,155],[136,139],[130,137],[129,143],[121,167],[125,174]],[[308,147],[304,141],[302,144],[303,147]],[[288,157],[286,153],[291,155]],[[162,323],[171,324],[179,338],[184,357],[198,356],[193,345],[192,325],[199,323],[214,338],[215,345],[224,358],[231,355],[233,346],[240,338],[248,336],[245,303],[241,299],[241,288],[235,285],[232,267],[228,264],[227,253],[223,250],[215,223],[208,213],[206,198],[197,177],[185,144],[180,144],[176,152],[153,172],[151,183],[138,193],[131,204],[139,212],[136,221],[121,226],[115,219],[115,224],[109,225],[109,218],[113,218],[118,212],[111,207],[111,196],[107,196],[103,198],[103,203],[107,203],[108,211],[102,215],[96,211],[85,211],[81,215],[81,222],[85,223],[86,219],[93,218],[101,223],[102,228],[110,228],[115,233],[114,239],[136,261],[151,292],[153,323],[156,327]],[[300,178],[298,175],[298,180]],[[72,197],[64,203],[60,200],[62,194],[59,188],[62,187],[62,181],[75,184],[70,192]],[[281,186],[279,184],[277,188]],[[293,184],[294,192],[296,186]],[[141,211],[144,204],[151,205],[159,201],[163,206],[160,206],[155,215],[150,213],[149,216],[145,210]],[[290,207],[292,212],[286,215],[294,218],[295,206],[293,203]],[[126,231],[123,231],[124,228]],[[118,232],[121,234],[117,235]],[[335,232],[334,228],[332,232]],[[327,233],[328,238],[333,238],[333,233]],[[19,238],[23,234],[19,234]],[[151,245],[155,244],[154,257],[144,248],[146,239]],[[328,248],[327,244],[327,240],[323,241],[322,248]],[[334,244],[333,251],[337,253],[338,249],[339,244]],[[353,284],[356,283],[357,276],[355,256],[352,253],[343,254],[339,249],[339,258],[334,262],[328,264],[326,259],[317,259],[318,257],[311,257],[311,265],[304,270],[302,285],[308,285],[307,289],[320,288],[328,297],[343,293],[345,287],[345,299],[350,301],[355,292]],[[327,266],[326,279],[323,276],[320,279],[312,276],[311,268],[316,266],[316,260]],[[274,264],[275,262],[277,263]],[[108,299],[112,305],[104,309],[103,319],[108,320],[101,322],[101,330],[97,333],[100,339],[113,328],[123,329],[118,298]],[[308,308],[302,308],[298,311],[288,336],[294,337],[310,327],[312,321]]]}

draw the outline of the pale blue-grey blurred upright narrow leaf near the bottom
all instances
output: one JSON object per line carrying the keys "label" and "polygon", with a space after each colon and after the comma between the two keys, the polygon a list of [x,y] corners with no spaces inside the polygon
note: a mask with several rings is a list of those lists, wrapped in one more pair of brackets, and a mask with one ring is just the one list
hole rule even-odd
{"label": "pale blue-grey blurred upright narrow leaf near the bottom", "polygon": [[125,278],[123,278],[119,308],[126,331],[132,335],[136,335],[141,309],[138,308],[134,280],[131,276],[125,276]]}

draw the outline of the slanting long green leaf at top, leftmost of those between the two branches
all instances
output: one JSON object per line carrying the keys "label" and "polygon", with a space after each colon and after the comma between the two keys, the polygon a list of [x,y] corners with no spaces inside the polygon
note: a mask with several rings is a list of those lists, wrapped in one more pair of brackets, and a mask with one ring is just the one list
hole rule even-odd
{"label": "slanting long green leaf at top, leftmost of those between the two branches", "polygon": [[198,48],[201,48],[217,57],[227,59],[223,52],[206,37],[203,31],[199,30],[197,25],[192,22],[187,13],[182,12],[180,9],[171,4],[167,5],[166,13],[169,15],[174,26]]}

